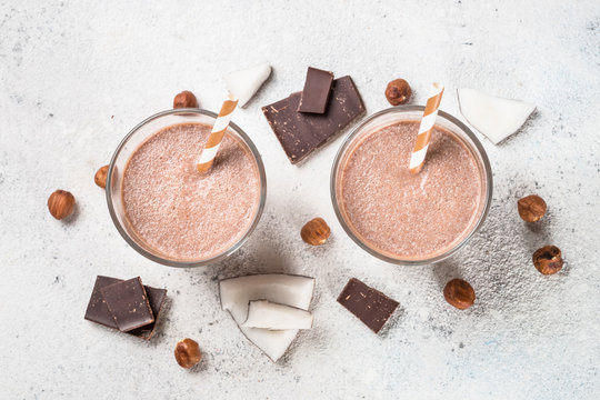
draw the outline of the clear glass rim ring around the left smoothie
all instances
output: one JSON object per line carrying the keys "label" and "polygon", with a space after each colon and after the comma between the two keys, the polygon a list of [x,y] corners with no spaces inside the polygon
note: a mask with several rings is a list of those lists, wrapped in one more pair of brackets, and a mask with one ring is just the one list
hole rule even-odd
{"label": "clear glass rim ring around the left smoothie", "polygon": [[127,133],[124,136],[124,138],[121,140],[121,142],[119,143],[119,146],[117,147],[117,149],[114,150],[114,153],[112,154],[112,157],[110,159],[109,170],[108,170],[108,173],[107,173],[107,186],[106,186],[107,204],[108,204],[110,218],[112,219],[112,222],[114,223],[114,227],[117,228],[117,230],[119,231],[121,237],[126,240],[126,242],[129,246],[131,246],[138,253],[142,254],[143,257],[146,257],[146,258],[148,258],[148,259],[150,259],[150,260],[152,260],[154,262],[161,263],[163,266],[177,267],[177,268],[203,267],[203,266],[209,266],[209,264],[216,263],[218,261],[221,261],[221,260],[228,258],[233,252],[236,252],[240,247],[242,247],[242,244],[248,240],[250,234],[257,228],[257,226],[258,226],[258,223],[260,221],[260,218],[262,216],[262,212],[264,210],[264,203],[267,201],[267,174],[266,174],[266,171],[264,171],[264,164],[262,163],[262,158],[260,157],[260,153],[259,153],[257,147],[254,146],[254,143],[252,142],[252,140],[250,139],[250,137],[248,137],[248,134],[246,134],[246,132],[239,126],[237,126],[234,122],[232,122],[232,121],[229,122],[229,128],[232,129],[242,139],[242,141],[244,142],[246,146],[248,146],[248,148],[250,149],[250,152],[252,153],[252,157],[256,160],[258,172],[259,172],[259,178],[260,178],[260,196],[259,196],[259,203],[258,203],[257,211],[256,211],[254,218],[252,220],[252,223],[248,227],[248,230],[246,231],[246,233],[239,240],[237,240],[231,247],[229,247],[227,250],[220,252],[219,254],[217,254],[214,257],[208,258],[208,259],[191,260],[191,261],[173,260],[173,259],[169,259],[169,258],[164,258],[164,257],[160,257],[160,256],[157,256],[154,253],[151,253],[150,251],[146,250],[143,247],[138,244],[131,238],[131,236],[127,232],[127,230],[124,229],[124,227],[121,224],[121,222],[119,221],[119,219],[117,217],[117,212],[114,210],[114,206],[113,206],[113,202],[112,202],[112,182],[111,182],[112,171],[113,171],[117,158],[119,157],[119,154],[123,150],[124,146],[128,143],[128,141],[131,139],[131,137],[136,132],[138,132],[141,128],[143,128],[146,124],[148,124],[148,123],[150,123],[150,122],[152,122],[154,120],[158,120],[158,119],[160,119],[162,117],[177,116],[177,114],[181,114],[182,117],[186,117],[186,114],[188,114],[188,116],[189,114],[197,114],[197,116],[210,117],[212,119],[217,119],[217,117],[218,117],[217,113],[214,113],[212,111],[204,110],[204,109],[179,108],[179,109],[172,109],[172,110],[166,110],[166,111],[158,112],[158,113],[156,113],[156,114],[153,114],[151,117],[148,117],[147,119],[144,119],[140,123],[138,123],[133,129],[131,129],[129,131],[129,133]]}

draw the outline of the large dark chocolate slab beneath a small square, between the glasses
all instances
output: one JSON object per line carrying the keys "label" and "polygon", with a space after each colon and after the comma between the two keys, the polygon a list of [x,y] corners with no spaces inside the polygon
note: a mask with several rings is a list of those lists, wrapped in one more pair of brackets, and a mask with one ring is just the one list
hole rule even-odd
{"label": "large dark chocolate slab beneath a small square, between the glasses", "polygon": [[262,108],[267,121],[291,163],[297,163],[364,113],[364,106],[350,77],[333,81],[331,99],[322,114],[298,112],[301,93]]}

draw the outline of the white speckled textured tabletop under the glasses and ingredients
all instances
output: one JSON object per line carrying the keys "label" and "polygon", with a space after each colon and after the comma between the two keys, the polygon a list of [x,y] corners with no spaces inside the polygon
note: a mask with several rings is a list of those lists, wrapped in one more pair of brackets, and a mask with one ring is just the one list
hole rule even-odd
{"label": "white speckled textured tabletop under the glasses and ingredients", "polygon": [[[598,398],[599,30],[597,0],[1,1],[0,398]],[[110,221],[97,168],[180,90],[217,110],[219,78],[262,61],[273,66],[271,80],[233,118],[267,167],[267,208],[251,240],[203,269],[138,256]],[[462,87],[538,106],[500,146],[482,140],[494,199],[467,248],[439,266],[399,268],[346,237],[329,200],[341,138],[292,167],[259,110],[301,90],[308,66],[351,74],[369,113],[387,107],[384,87],[399,77],[416,103],[430,82],[443,82],[442,109],[452,114]],[[57,188],[78,199],[71,222],[46,209]],[[549,214],[529,228],[516,199],[531,192]],[[321,248],[299,237],[316,216],[332,228]],[[552,277],[530,262],[548,243],[567,260]],[[316,328],[278,364],[218,298],[220,278],[267,271],[317,278]],[[83,320],[99,273],[169,289],[151,342]],[[334,301],[350,277],[401,302],[386,334]],[[468,311],[442,298],[454,277],[477,291]],[[204,351],[193,372],[173,360],[184,337]]]}

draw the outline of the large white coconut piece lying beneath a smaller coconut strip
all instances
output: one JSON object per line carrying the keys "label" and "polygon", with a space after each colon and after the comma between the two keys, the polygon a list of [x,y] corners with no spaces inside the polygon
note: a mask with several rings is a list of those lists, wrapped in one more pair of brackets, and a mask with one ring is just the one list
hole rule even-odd
{"label": "large white coconut piece lying beneath a smaller coconut strip", "polygon": [[[222,280],[219,284],[221,307],[228,310],[238,326],[248,318],[251,300],[270,300],[308,310],[314,291],[314,278],[282,273],[257,274]],[[297,329],[268,330],[240,327],[242,333],[273,362],[288,350]]]}

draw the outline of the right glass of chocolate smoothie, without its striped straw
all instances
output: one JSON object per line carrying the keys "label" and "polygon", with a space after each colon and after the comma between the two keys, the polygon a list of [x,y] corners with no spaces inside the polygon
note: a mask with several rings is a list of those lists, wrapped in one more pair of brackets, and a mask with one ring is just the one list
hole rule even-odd
{"label": "right glass of chocolate smoothie, without its striped straw", "polygon": [[473,132],[439,111],[424,166],[409,171],[423,107],[396,107],[361,123],[340,148],[331,198],[346,232],[397,264],[429,264],[464,246],[492,198],[486,151]]}

